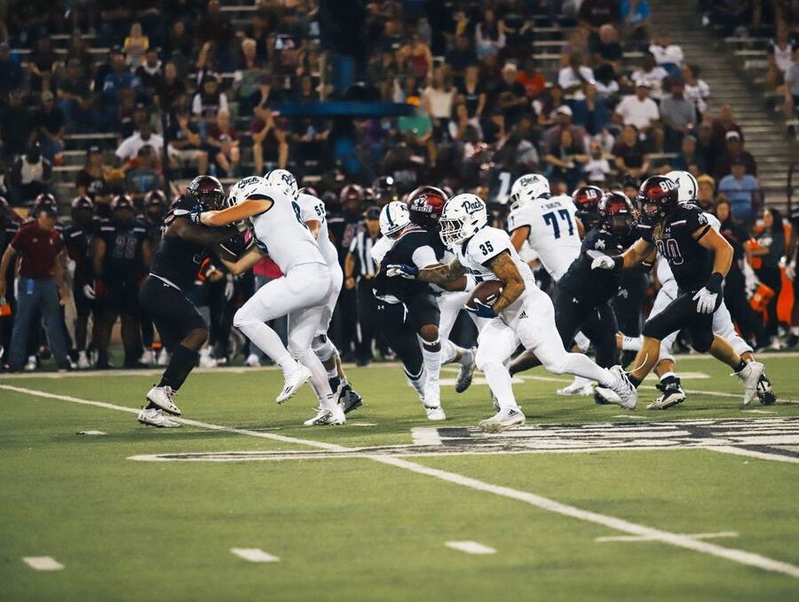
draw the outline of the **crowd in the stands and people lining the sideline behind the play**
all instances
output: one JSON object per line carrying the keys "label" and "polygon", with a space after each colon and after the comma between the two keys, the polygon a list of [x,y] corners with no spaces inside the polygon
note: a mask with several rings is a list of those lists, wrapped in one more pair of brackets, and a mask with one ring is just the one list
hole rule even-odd
{"label": "crowd in the stands and people lining the sideline behind the play", "polygon": [[[758,348],[799,341],[799,322],[783,332],[777,317],[784,256],[795,271],[788,223],[799,228],[799,211],[783,216],[763,198],[733,107],[708,109],[700,67],[678,38],[652,27],[647,0],[370,2],[353,14],[362,27],[349,53],[331,49],[320,7],[304,0],[261,0],[243,20],[219,0],[4,4],[4,368],[36,369],[48,353],[59,368],[108,368],[118,317],[122,365],[165,364],[135,291],[171,198],[197,174],[274,168],[325,202],[345,277],[330,335],[345,360],[392,357],[369,294],[380,208],[434,184],[478,194],[504,226],[511,183],[534,171],[553,193],[595,185],[630,198],[648,175],[691,172],[702,209],[735,249],[724,296],[743,337]],[[735,5],[761,4],[703,6],[734,30],[748,18]],[[775,68],[788,103],[799,98],[799,54],[785,50],[797,12],[775,6]],[[566,38],[551,42],[542,22]],[[54,35],[67,47],[55,48]],[[536,58],[547,40],[558,67]],[[276,108],[350,99],[405,110],[342,119]],[[92,142],[83,167],[66,171],[72,185],[59,186],[67,135],[97,132],[115,134],[115,148]],[[211,325],[202,366],[239,352],[248,365],[263,360],[233,331],[233,313],[279,276],[268,258],[235,278],[221,262],[202,265],[193,293]],[[639,335],[642,319],[624,334]],[[275,326],[285,337],[285,324]],[[456,333],[471,345],[468,321]]]}

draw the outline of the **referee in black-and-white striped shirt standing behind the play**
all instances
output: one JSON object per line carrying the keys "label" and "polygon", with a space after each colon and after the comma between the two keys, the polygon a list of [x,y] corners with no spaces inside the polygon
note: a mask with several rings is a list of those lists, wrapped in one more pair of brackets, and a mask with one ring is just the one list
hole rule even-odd
{"label": "referee in black-and-white striped shirt standing behind the play", "polygon": [[364,226],[352,237],[350,250],[344,259],[344,288],[357,289],[359,366],[366,366],[372,360],[372,340],[376,333],[377,302],[372,294],[372,280],[377,265],[371,250],[380,238],[380,209],[369,207],[365,217]]}

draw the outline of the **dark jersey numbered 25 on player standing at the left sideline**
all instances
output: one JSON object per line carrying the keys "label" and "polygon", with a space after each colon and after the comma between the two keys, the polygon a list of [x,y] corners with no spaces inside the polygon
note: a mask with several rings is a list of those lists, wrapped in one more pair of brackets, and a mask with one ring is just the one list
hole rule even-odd
{"label": "dark jersey numbered 25 on player standing at the left sideline", "polygon": [[100,223],[95,235],[106,243],[103,275],[107,281],[136,281],[146,273],[142,247],[149,236],[143,223],[123,225],[107,220]]}

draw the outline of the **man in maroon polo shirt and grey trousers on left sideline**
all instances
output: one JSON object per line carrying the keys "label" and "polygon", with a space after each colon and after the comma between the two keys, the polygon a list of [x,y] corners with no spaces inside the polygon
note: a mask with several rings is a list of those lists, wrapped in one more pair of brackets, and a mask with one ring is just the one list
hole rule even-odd
{"label": "man in maroon polo shirt and grey trousers on left sideline", "polygon": [[69,289],[64,285],[61,257],[63,243],[55,229],[55,203],[40,203],[34,220],[20,227],[0,261],[0,297],[5,297],[6,273],[20,257],[16,315],[12,333],[9,368],[22,369],[28,348],[28,334],[41,316],[59,369],[69,368],[67,342],[60,319],[60,305],[66,305]]}

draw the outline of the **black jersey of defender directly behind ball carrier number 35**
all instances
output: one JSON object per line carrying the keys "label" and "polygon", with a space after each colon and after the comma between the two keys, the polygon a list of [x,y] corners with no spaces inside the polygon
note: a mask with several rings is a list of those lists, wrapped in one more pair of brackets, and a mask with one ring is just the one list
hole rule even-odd
{"label": "black jersey of defender directly behind ball carrier number 35", "polygon": [[[389,250],[380,264],[380,272],[375,277],[372,288],[377,297],[391,295],[400,301],[407,302],[415,295],[431,295],[433,290],[423,281],[407,280],[399,276],[389,278],[385,275],[388,265],[406,264],[414,265],[414,252],[420,247],[431,247],[439,261],[444,257],[444,245],[436,244],[434,239],[439,239],[438,234],[417,227],[411,227]],[[440,242],[440,239],[439,239]]]}

